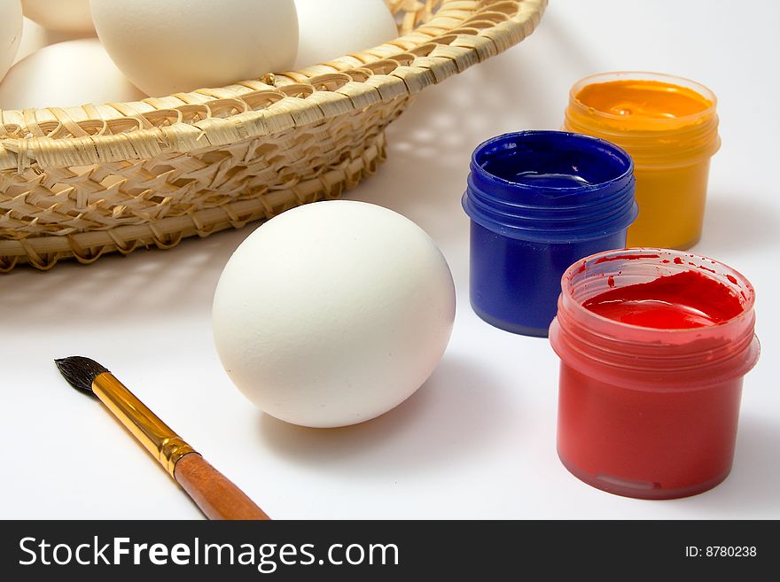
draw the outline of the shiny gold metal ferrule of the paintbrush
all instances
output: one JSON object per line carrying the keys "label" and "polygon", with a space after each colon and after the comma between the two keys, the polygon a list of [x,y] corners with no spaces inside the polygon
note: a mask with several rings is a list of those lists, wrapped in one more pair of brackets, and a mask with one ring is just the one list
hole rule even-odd
{"label": "shiny gold metal ferrule of the paintbrush", "polygon": [[111,372],[92,381],[92,392],[119,418],[128,431],[174,476],[176,462],[195,449],[184,442]]}

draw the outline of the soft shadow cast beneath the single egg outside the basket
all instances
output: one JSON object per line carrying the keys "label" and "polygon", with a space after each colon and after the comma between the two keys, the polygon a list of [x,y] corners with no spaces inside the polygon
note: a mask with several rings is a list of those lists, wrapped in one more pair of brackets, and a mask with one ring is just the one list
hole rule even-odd
{"label": "soft shadow cast beneath the single egg outside the basket", "polygon": [[[291,462],[326,471],[425,472],[468,464],[496,432],[522,419],[473,361],[445,357],[428,381],[394,410],[366,423],[309,429],[261,415],[260,437]],[[378,461],[379,460],[379,461]]]}

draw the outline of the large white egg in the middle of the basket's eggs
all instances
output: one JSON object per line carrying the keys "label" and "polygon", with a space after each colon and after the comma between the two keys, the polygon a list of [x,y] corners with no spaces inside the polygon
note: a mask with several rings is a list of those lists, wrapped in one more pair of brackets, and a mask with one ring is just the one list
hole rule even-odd
{"label": "large white egg in the middle of the basket's eggs", "polygon": [[105,50],[159,97],[289,69],[298,47],[293,0],[92,0]]}

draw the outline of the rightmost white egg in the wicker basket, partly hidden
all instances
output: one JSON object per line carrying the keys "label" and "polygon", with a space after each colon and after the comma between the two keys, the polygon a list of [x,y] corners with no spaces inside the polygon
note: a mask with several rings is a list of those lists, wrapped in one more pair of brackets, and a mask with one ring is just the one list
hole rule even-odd
{"label": "rightmost white egg in the wicker basket, partly hidden", "polygon": [[298,58],[295,68],[371,49],[398,36],[384,0],[295,0]]}

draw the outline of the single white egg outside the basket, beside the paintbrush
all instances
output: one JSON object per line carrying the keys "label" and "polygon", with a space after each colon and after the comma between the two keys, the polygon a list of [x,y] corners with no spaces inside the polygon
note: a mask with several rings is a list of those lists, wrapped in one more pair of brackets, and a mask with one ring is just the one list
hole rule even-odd
{"label": "single white egg outside the basket, beside the paintbrush", "polygon": [[334,200],[263,224],[214,294],[214,344],[249,400],[288,423],[361,423],[409,398],[447,347],[455,289],[414,222]]}

